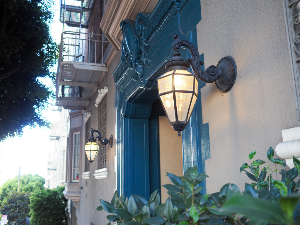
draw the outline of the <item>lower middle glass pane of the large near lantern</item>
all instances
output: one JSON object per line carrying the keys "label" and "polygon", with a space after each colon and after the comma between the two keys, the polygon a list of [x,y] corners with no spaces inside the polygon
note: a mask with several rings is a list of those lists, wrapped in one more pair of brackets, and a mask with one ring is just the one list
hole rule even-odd
{"label": "lower middle glass pane of the large near lantern", "polygon": [[176,92],[175,95],[178,121],[185,122],[187,121],[188,107],[190,106],[193,93]]}

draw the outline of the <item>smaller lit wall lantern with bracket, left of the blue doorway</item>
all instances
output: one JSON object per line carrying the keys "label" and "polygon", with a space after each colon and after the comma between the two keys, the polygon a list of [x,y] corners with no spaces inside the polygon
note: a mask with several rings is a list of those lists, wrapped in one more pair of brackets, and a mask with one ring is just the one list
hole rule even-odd
{"label": "smaller lit wall lantern with bracket, left of the blue doorway", "polygon": [[[94,135],[93,135],[94,132],[96,132],[98,134],[98,137],[94,137]],[[101,137],[101,134],[99,133],[99,131],[91,128],[91,137],[88,138],[88,143],[86,143],[84,145],[85,154],[88,158],[88,161],[91,163],[95,161],[95,158],[99,151],[99,145],[96,143],[96,140],[98,140],[101,145],[107,145],[109,143],[110,148],[112,148],[112,146],[113,146],[113,135],[110,135],[109,140],[105,138],[102,141],[101,139],[102,139],[102,137]]]}

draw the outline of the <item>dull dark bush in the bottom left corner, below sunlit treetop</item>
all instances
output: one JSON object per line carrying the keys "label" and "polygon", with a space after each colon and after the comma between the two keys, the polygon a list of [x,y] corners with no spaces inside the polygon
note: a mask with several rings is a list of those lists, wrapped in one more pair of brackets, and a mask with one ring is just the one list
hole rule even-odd
{"label": "dull dark bush in the bottom left corner, below sunlit treetop", "polygon": [[29,217],[29,194],[13,191],[2,202],[1,214],[7,215],[7,225],[25,225]]}

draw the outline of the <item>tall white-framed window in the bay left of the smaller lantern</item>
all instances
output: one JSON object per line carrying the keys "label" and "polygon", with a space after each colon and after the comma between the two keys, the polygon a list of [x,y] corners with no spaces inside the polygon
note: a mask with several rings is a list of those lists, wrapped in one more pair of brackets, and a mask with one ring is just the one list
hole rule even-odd
{"label": "tall white-framed window in the bay left of the smaller lantern", "polygon": [[79,182],[80,132],[73,133],[72,182]]}

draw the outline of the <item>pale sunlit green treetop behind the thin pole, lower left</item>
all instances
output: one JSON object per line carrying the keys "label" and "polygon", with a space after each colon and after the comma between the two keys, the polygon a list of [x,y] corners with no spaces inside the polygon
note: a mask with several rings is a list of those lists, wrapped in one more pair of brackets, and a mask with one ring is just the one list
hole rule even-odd
{"label": "pale sunlit green treetop behind the thin pole, lower left", "polygon": [[[32,193],[35,190],[43,190],[45,178],[38,174],[25,174],[20,176],[20,190],[21,192]],[[18,190],[18,177],[8,180],[0,187],[0,201],[2,202],[6,196],[13,191]]]}

